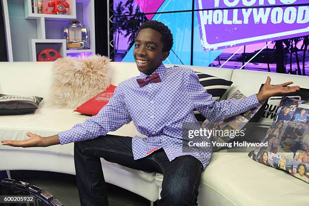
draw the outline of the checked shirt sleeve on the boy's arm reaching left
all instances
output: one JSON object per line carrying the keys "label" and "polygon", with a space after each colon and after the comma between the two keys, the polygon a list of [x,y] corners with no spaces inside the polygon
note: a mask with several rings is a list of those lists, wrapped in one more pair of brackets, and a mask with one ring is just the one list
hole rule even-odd
{"label": "checked shirt sleeve on the boy's arm reaching left", "polygon": [[61,144],[93,139],[115,131],[122,125],[131,121],[131,116],[125,105],[120,86],[115,89],[109,103],[103,107],[97,115],[76,124],[72,129],[60,132]]}

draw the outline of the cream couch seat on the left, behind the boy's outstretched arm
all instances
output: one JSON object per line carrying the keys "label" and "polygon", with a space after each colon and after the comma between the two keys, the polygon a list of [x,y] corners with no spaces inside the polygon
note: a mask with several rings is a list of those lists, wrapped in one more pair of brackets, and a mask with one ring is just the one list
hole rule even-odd
{"label": "cream couch seat on the left, behind the boy's outstretched arm", "polygon": [[[60,131],[71,129],[76,123],[82,123],[84,120],[90,118],[79,113],[72,113],[73,111],[71,109],[50,109],[42,107],[37,109],[34,114],[0,116],[0,139],[25,139],[27,138],[26,132],[28,131],[41,136],[55,135]],[[144,135],[137,132],[133,122],[125,124],[117,131],[109,132],[109,134],[119,136],[139,135],[144,137]],[[10,149],[14,147],[0,144],[0,148]],[[33,147],[31,149],[64,152],[72,155],[74,153],[73,143],[49,147]]]}

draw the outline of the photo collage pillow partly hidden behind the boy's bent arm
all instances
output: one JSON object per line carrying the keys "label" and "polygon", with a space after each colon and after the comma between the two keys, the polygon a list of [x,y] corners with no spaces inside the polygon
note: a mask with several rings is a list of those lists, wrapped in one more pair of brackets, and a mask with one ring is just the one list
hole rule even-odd
{"label": "photo collage pillow partly hidden behind the boy's bent arm", "polygon": [[[236,90],[227,100],[238,100],[238,99],[243,99],[246,96],[243,95],[239,90]],[[202,123],[202,128],[208,128],[208,129],[215,129],[215,130],[241,130],[253,117],[260,108],[262,107],[262,104],[260,104],[258,107],[252,108],[242,114],[230,117],[228,119],[225,119],[220,122],[210,122],[209,120],[205,120]],[[259,119],[259,118],[258,118]],[[232,140],[232,136],[226,135],[226,136],[212,136],[211,140],[216,141],[218,143],[224,143],[224,142],[229,142]],[[213,151],[219,151],[225,149],[223,146],[214,146]]]}

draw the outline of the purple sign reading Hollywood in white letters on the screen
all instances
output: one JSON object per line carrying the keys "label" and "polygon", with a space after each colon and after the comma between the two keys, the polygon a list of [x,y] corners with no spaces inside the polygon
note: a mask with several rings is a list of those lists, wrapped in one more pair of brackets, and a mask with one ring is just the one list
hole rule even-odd
{"label": "purple sign reading Hollywood in white letters on the screen", "polygon": [[204,50],[309,35],[308,0],[196,0]]}

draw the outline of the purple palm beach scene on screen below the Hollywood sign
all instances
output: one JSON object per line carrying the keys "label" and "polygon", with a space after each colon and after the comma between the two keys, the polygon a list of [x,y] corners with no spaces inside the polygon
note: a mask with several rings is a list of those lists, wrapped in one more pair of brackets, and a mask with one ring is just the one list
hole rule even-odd
{"label": "purple palm beach scene on screen below the Hollywood sign", "polygon": [[308,76],[309,52],[306,41],[308,36],[284,39],[279,42],[282,44],[282,49],[276,49],[277,41],[230,47],[225,49],[210,66],[277,72],[279,63],[282,66],[280,73]]}

